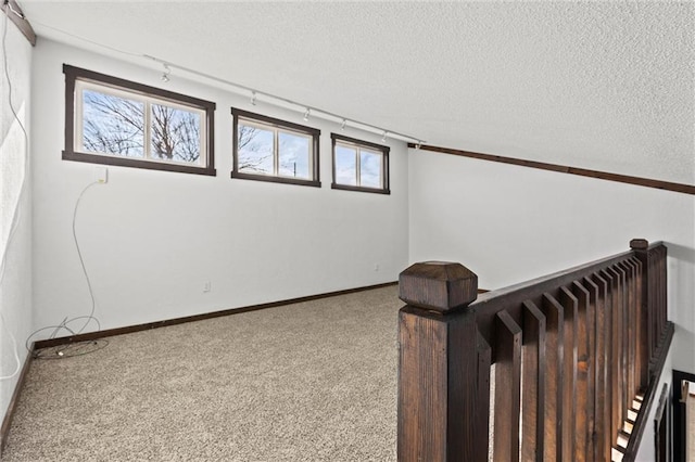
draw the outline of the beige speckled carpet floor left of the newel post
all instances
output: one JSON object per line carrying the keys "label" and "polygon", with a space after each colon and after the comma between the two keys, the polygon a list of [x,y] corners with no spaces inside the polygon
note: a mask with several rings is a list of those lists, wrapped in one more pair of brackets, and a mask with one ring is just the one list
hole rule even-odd
{"label": "beige speckled carpet floor left of the newel post", "polygon": [[392,461],[397,287],[35,360],[5,462]]}

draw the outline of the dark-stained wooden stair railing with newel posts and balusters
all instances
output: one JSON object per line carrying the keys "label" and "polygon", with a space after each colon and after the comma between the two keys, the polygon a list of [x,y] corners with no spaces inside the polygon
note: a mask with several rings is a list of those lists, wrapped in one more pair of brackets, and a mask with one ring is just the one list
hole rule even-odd
{"label": "dark-stained wooden stair railing with newel posts and balusters", "polygon": [[480,298],[459,264],[403,271],[399,460],[633,460],[673,324],[666,247],[630,244]]}

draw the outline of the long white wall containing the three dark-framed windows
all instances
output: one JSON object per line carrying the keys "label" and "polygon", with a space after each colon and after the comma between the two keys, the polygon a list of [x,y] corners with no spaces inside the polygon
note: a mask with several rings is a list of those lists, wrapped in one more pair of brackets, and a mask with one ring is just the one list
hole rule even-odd
{"label": "long white wall containing the three dark-framed windows", "polygon": [[[216,177],[109,167],[108,184],[85,193],[77,234],[102,328],[395,281],[407,266],[405,143],[388,142],[391,195],[330,189],[330,132],[340,126],[317,118],[306,125],[321,130],[320,189],[230,179],[231,106],[304,124],[302,114],[252,106],[248,97],[187,81],[176,70],[163,84],[161,68],[39,40],[33,80],[37,328],[90,309],[72,217],[96,167],[61,159],[63,63],[217,104]],[[380,142],[370,133],[345,134]],[[203,293],[205,281],[210,293]]]}

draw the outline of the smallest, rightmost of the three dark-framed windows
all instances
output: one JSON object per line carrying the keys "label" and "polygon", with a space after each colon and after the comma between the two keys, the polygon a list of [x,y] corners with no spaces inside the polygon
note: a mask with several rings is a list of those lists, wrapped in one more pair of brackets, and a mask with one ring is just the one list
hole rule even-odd
{"label": "smallest, rightmost of the three dark-framed windows", "polygon": [[332,189],[390,194],[388,146],[331,133]]}

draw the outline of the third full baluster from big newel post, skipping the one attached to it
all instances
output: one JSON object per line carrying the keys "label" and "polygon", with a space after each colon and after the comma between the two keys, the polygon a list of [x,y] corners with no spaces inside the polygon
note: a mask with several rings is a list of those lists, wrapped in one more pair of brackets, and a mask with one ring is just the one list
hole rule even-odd
{"label": "third full baluster from big newel post, skipping the one attached to it", "polygon": [[[545,315],[545,450],[543,460],[563,460],[563,412],[565,360],[565,309],[551,294],[543,294],[543,315]],[[482,460],[482,459],[481,459]]]}

